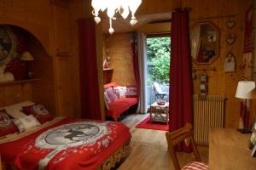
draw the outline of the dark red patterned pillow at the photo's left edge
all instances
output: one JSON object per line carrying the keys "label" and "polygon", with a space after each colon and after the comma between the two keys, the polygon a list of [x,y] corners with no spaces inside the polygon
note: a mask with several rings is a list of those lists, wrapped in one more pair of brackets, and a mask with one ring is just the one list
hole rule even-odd
{"label": "dark red patterned pillow at the photo's left edge", "polygon": [[0,110],[0,137],[18,132],[18,128],[5,110]]}

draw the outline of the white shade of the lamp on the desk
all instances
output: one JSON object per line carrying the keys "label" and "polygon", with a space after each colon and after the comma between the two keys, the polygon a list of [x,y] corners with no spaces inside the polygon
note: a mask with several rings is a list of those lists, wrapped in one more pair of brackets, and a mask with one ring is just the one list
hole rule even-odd
{"label": "white shade of the lamp on the desk", "polygon": [[255,88],[253,81],[240,81],[236,88],[236,98],[239,99],[253,99],[252,91]]}

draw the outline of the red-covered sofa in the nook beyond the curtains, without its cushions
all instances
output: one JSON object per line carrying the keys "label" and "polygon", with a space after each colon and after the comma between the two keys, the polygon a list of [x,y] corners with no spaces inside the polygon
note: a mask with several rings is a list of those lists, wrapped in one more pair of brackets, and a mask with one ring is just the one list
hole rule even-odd
{"label": "red-covered sofa in the nook beyond the curtains, without its cushions", "polygon": [[[115,82],[111,82],[104,85],[104,90],[116,87],[118,85]],[[107,104],[108,109],[105,109],[105,115],[113,117],[113,120],[117,122],[119,121],[119,116],[129,111],[132,106],[137,105],[137,102],[137,96],[115,99],[113,102]]]}

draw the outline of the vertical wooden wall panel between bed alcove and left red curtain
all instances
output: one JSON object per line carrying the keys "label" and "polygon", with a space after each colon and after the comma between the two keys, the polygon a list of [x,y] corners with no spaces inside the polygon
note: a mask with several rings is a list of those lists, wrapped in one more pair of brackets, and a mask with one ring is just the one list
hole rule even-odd
{"label": "vertical wooden wall panel between bed alcove and left red curtain", "polygon": [[69,8],[52,4],[53,61],[55,73],[55,102],[58,116],[73,113],[72,65],[69,62],[70,14]]}

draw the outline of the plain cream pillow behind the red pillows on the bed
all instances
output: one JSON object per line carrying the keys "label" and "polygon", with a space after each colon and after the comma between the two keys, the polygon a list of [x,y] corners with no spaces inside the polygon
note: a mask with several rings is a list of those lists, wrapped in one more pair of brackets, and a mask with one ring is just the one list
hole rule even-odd
{"label": "plain cream pillow behind the red pillows on the bed", "polygon": [[5,106],[1,109],[5,109],[5,111],[7,111],[7,113],[9,114],[9,116],[14,117],[15,119],[19,119],[21,117],[26,116],[26,114],[22,113],[22,107],[24,106],[28,106],[28,105],[33,105],[34,103],[32,101],[24,101],[21,103],[17,103],[14,105],[8,105]]}

